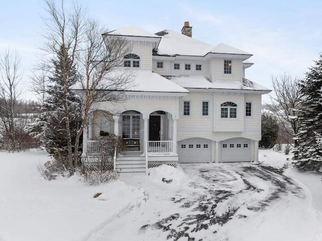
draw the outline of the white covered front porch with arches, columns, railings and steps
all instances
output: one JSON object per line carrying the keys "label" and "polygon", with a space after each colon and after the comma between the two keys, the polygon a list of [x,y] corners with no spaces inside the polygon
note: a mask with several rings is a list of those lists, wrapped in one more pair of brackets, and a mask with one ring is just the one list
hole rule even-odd
{"label": "white covered front porch with arches, columns, railings and steps", "polygon": [[[163,164],[177,167],[177,115],[167,110],[126,110],[119,115],[96,110],[83,134],[83,158],[98,160],[106,153],[104,137],[124,140],[123,151],[111,156],[113,169],[146,172]],[[112,158],[113,157],[113,158]]]}

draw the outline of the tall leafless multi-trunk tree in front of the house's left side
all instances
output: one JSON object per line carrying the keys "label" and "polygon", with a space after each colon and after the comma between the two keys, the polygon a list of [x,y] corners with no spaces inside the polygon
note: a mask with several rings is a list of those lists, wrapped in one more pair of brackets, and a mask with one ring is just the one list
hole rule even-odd
{"label": "tall leafless multi-trunk tree in front of the house's left side", "polygon": [[[68,166],[73,173],[73,165],[77,165],[79,153],[79,138],[87,125],[91,106],[96,101],[119,101],[120,92],[128,85],[130,75],[120,73],[110,75],[122,64],[123,56],[130,51],[128,42],[121,37],[104,37],[107,30],[100,27],[97,21],[89,19],[84,9],[74,4],[71,10],[64,7],[62,0],[56,5],[53,0],[44,0],[48,18],[44,18],[46,33],[43,35],[46,44],[43,50],[50,58],[58,54],[68,57],[68,64],[62,61],[61,75],[64,84],[63,107],[68,148]],[[103,35],[104,36],[104,35]],[[67,58],[67,57],[66,57]],[[52,71],[52,61],[43,59],[42,69]],[[67,92],[70,90],[68,74],[72,66],[76,66],[81,76],[78,87],[81,92],[83,122],[77,131],[75,146],[72,148],[70,123],[68,119]],[[74,152],[73,152],[74,150]]]}

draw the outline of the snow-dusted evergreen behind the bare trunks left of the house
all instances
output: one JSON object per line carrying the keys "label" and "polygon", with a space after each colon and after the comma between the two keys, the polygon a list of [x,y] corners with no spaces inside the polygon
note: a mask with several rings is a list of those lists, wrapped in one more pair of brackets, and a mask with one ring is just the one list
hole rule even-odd
{"label": "snow-dusted evergreen behind the bare trunks left of the house", "polygon": [[[69,121],[70,140],[72,146],[75,143],[76,131],[82,122],[81,99],[70,91],[70,87],[76,83],[79,76],[75,66],[71,66],[70,57],[64,51],[57,53],[56,59],[52,60],[54,70],[48,78],[46,87],[47,98],[42,109],[43,113],[29,128],[30,133],[39,137],[42,145],[49,153],[59,156],[67,155],[67,131],[65,118]],[[62,81],[62,71],[68,70],[67,88]],[[67,89],[67,92],[65,90]],[[68,111],[64,108],[64,95],[67,95]]]}

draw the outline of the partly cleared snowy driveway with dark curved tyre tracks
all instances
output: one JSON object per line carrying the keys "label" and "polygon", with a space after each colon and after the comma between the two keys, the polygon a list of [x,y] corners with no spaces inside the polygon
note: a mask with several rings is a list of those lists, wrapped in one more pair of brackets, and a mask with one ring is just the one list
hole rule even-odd
{"label": "partly cleared snowy driveway with dark curved tyre tracks", "polygon": [[181,167],[187,176],[182,184],[123,177],[144,187],[145,199],[89,240],[319,240],[306,190],[283,170],[252,164]]}

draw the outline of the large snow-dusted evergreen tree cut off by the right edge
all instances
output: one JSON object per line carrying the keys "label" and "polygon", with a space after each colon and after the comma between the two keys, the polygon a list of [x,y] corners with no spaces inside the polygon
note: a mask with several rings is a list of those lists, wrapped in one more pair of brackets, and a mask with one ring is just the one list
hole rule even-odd
{"label": "large snow-dusted evergreen tree cut off by the right edge", "polygon": [[299,109],[299,159],[295,165],[302,171],[322,171],[322,54],[314,62],[298,83],[304,98]]}

